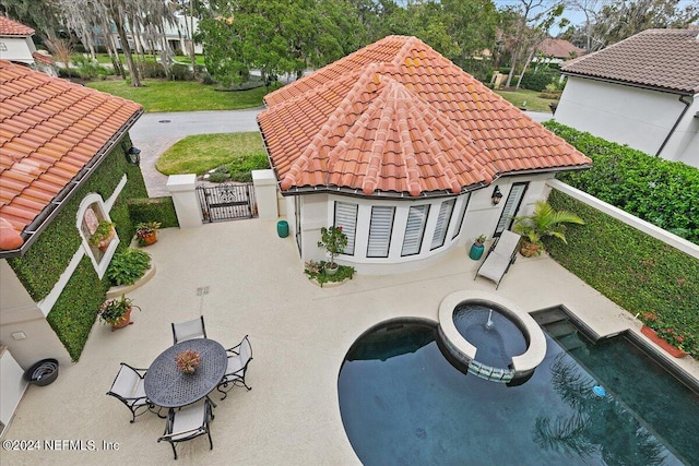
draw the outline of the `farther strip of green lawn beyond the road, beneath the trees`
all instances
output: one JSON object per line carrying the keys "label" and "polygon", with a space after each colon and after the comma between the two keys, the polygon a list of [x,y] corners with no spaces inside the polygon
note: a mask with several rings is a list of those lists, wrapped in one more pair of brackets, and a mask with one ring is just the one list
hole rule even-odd
{"label": "farther strip of green lawn beyond the road, beneath the trees", "polygon": [[239,110],[262,105],[266,87],[249,91],[218,92],[215,85],[190,81],[143,80],[133,87],[123,80],[93,81],[85,84],[111,95],[137,101],[145,111]]}

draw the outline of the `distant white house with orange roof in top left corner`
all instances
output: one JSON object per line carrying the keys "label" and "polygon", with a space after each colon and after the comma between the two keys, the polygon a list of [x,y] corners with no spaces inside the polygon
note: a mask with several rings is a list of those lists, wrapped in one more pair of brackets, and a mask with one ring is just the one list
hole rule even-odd
{"label": "distant white house with orange roof in top left corner", "polygon": [[34,29],[0,15],[0,60],[24,63],[34,70],[57,76],[54,59],[36,50]]}

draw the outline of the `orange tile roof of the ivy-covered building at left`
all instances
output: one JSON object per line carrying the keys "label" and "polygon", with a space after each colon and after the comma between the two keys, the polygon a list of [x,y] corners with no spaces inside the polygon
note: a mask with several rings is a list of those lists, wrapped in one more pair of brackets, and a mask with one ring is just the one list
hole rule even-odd
{"label": "orange tile roof of the ivy-covered building at left", "polygon": [[0,60],[0,217],[32,236],[142,112],[133,101]]}

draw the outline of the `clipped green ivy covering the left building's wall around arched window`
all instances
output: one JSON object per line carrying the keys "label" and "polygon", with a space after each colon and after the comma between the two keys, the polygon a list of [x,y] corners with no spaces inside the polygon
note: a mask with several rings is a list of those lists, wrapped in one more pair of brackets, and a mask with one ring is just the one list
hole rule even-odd
{"label": "clipped green ivy covering the left building's wall around arched window", "polygon": [[[40,301],[51,291],[81,247],[82,238],[75,220],[82,200],[91,192],[106,200],[114,193],[122,174],[127,175],[128,182],[109,216],[116,223],[117,234],[121,238],[118,250],[128,247],[135,227],[129,215],[127,200],[146,198],[147,193],[140,168],[126,162],[125,147],[130,147],[128,136],[105,157],[26,253],[8,260],[33,300]],[[100,280],[90,258],[85,256],[47,315],[47,321],[74,360],[80,357],[95,322],[97,308],[108,288],[106,276]]]}

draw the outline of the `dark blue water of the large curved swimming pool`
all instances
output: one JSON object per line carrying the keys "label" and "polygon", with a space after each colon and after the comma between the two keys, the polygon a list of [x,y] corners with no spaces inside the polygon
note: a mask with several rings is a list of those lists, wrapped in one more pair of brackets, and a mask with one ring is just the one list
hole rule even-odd
{"label": "dark blue water of the large curved swimming pool", "polygon": [[546,358],[520,386],[460,372],[436,337],[436,324],[392,321],[347,353],[340,410],[363,464],[699,462],[699,398],[624,337],[569,333],[567,353],[547,334]]}

